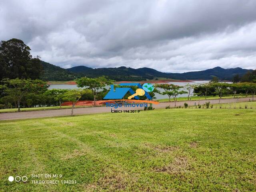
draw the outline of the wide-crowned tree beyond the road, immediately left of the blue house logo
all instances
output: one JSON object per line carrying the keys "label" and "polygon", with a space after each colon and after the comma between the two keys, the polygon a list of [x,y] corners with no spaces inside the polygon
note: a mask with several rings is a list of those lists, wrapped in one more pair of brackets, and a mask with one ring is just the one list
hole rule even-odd
{"label": "wide-crowned tree beyond the road, immediately left of the blue house logo", "polygon": [[113,80],[106,79],[106,77],[88,78],[82,77],[76,80],[78,87],[86,87],[92,91],[94,96],[94,105],[96,105],[96,97],[100,89],[103,89],[106,85],[113,84]]}

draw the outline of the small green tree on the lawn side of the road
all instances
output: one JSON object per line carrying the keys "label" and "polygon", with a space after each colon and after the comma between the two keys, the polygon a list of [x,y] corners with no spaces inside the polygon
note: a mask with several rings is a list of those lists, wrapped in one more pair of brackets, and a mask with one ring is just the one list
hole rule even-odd
{"label": "small green tree on the lawn side of the road", "polygon": [[71,115],[73,115],[74,106],[78,102],[78,100],[82,97],[82,95],[90,93],[91,91],[88,89],[72,89],[68,90],[64,93],[63,100],[70,101],[72,103]]}

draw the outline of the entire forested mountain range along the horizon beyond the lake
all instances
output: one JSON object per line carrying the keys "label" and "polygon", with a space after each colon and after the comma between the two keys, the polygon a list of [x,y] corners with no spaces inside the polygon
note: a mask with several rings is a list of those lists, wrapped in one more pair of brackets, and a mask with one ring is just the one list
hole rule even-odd
{"label": "entire forested mountain range along the horizon beyond the lake", "polygon": [[152,68],[127,68],[125,66],[118,68],[90,68],[86,66],[76,66],[68,69],[54,66],[50,63],[43,62],[44,74],[42,74],[43,80],[50,81],[67,81],[74,80],[76,78],[87,76],[87,77],[98,77],[108,76],[109,78],[116,81],[140,81],[140,80],[152,80],[154,78],[170,78],[179,80],[211,80],[212,77],[216,76],[220,80],[232,80],[233,76],[239,74],[243,76],[246,74],[248,69],[242,68],[230,68],[224,69],[221,67],[215,67],[212,69],[196,71],[196,72],[185,72],[185,73],[164,73]]}

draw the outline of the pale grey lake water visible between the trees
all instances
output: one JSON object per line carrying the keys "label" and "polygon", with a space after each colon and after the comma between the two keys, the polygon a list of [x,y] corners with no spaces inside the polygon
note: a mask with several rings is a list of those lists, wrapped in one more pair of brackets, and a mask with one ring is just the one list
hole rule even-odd
{"label": "pale grey lake water visible between the trees", "polygon": [[[169,84],[174,84],[178,86],[184,86],[186,84],[202,84],[202,83],[208,83],[209,81],[194,81],[194,82],[168,82]],[[66,84],[56,84],[56,85],[50,85],[48,89],[77,89],[78,87],[76,85],[66,85]],[[110,88],[110,86],[106,86],[106,88]],[[158,89],[161,92],[163,92],[162,89]],[[193,93],[192,93],[193,94]],[[178,95],[177,97],[186,97],[188,94],[181,94]],[[156,99],[166,99],[168,96],[166,95],[161,95],[156,93]]]}

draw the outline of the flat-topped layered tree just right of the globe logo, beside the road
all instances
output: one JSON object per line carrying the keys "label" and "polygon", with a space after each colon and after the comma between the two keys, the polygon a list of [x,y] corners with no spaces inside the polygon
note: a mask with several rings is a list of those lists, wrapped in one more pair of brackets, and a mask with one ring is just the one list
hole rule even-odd
{"label": "flat-topped layered tree just right of the globe logo, beside the road", "polygon": [[176,101],[177,101],[177,96],[179,94],[185,94],[187,93],[186,91],[179,91],[182,86],[174,85],[174,84],[156,84],[157,88],[162,88],[164,92],[162,92],[162,95],[168,95],[169,101],[171,101],[171,96],[174,99],[174,106],[176,107]]}

